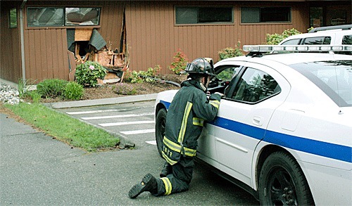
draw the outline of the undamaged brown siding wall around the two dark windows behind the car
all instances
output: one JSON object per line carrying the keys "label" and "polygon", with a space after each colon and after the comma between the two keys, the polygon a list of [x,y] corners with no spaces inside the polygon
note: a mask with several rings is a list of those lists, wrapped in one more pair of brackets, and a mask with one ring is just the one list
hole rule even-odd
{"label": "undamaged brown siding wall around the two dark windows behind the car", "polygon": [[[232,25],[184,25],[174,23],[174,6],[189,5],[189,2],[132,1],[126,6],[127,44],[130,53],[130,69],[146,70],[148,67],[161,65],[161,73],[170,73],[168,66],[177,49],[182,49],[189,60],[208,56],[218,60],[218,51],[226,47],[235,47],[237,41],[244,44],[265,44],[266,34],[281,34],[284,30],[296,28],[306,32],[309,25],[308,10],[302,11],[306,4],[265,3],[292,7],[291,23],[241,24],[240,6],[263,6],[260,2],[223,1],[222,5],[234,6],[234,23]],[[193,4],[199,4],[194,2]],[[218,5],[219,3],[206,3]],[[204,5],[203,2],[201,5]],[[306,6],[308,8],[308,6]]]}

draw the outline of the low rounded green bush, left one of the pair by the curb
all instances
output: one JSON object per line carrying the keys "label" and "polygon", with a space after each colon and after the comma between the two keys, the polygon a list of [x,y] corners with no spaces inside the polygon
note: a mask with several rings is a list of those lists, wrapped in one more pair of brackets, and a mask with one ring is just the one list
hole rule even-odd
{"label": "low rounded green bush, left one of the pair by the curb", "polygon": [[37,92],[45,98],[56,98],[61,96],[68,81],[63,79],[44,79],[37,84]]}

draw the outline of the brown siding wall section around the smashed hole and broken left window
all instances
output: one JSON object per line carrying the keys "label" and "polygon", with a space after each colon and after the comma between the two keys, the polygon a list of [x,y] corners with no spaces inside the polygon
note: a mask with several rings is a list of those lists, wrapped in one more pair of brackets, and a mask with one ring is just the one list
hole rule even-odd
{"label": "brown siding wall section around the smashed hole and broken left window", "polygon": [[[123,2],[121,1],[32,1],[26,6],[99,6],[101,7],[100,27],[97,28],[111,49],[119,48],[122,27]],[[70,27],[73,28],[73,27]],[[81,27],[77,27],[81,28]],[[68,80],[68,46],[66,27],[27,28],[25,27],[25,67],[26,78],[39,83],[43,79],[59,78]],[[108,46],[108,45],[107,45]]]}

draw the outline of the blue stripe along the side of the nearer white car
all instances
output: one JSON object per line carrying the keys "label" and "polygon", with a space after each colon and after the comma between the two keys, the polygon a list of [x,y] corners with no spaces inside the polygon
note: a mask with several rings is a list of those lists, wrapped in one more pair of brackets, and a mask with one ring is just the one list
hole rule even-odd
{"label": "blue stripe along the side of the nearer white car", "polygon": [[[161,101],[161,103],[163,103],[167,109],[170,107],[170,103],[166,101]],[[334,143],[316,141],[299,136],[282,134],[276,131],[260,129],[258,127],[253,127],[248,124],[235,122],[222,117],[217,117],[213,122],[209,122],[209,124],[213,124],[217,127],[228,129],[245,136],[250,136],[251,138],[258,140],[263,139],[263,136],[265,136],[264,141],[286,148],[291,148],[293,150],[329,157],[344,162],[352,162],[352,148],[348,146],[341,146]]]}

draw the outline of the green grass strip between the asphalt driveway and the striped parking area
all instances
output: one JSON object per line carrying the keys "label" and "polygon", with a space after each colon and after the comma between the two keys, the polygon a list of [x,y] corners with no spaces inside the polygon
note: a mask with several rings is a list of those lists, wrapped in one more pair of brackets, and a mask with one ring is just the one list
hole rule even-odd
{"label": "green grass strip between the asphalt driveway and the striped parking area", "polygon": [[120,142],[120,139],[103,129],[46,108],[39,103],[3,106],[45,134],[89,152],[116,148]]}

